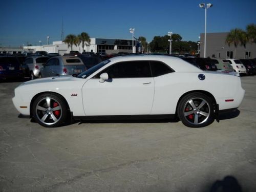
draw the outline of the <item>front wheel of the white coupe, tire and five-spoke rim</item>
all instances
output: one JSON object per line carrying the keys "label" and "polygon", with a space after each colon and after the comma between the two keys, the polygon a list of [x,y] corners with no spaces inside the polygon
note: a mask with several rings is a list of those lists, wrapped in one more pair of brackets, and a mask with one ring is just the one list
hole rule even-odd
{"label": "front wheel of the white coupe, tire and five-spoke rim", "polygon": [[57,94],[41,94],[33,102],[32,115],[42,126],[57,127],[68,121],[68,106]]}

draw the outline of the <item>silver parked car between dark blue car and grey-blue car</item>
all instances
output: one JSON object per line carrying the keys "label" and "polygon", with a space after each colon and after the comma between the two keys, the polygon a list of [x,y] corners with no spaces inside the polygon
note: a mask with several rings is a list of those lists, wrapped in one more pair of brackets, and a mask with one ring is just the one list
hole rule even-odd
{"label": "silver parked car between dark blue car and grey-blue car", "polygon": [[29,74],[30,79],[35,79],[38,77],[40,68],[42,67],[43,63],[46,63],[46,61],[49,59],[49,57],[45,56],[30,56],[26,58],[24,61],[25,65],[29,68]]}

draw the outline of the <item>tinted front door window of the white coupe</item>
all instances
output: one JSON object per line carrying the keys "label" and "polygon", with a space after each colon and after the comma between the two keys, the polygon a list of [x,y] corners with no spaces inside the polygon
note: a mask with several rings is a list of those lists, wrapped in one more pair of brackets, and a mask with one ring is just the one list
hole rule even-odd
{"label": "tinted front door window of the white coupe", "polygon": [[[100,72],[102,73],[108,73],[110,78],[152,77],[148,61],[118,62]],[[99,78],[100,74],[96,78]]]}

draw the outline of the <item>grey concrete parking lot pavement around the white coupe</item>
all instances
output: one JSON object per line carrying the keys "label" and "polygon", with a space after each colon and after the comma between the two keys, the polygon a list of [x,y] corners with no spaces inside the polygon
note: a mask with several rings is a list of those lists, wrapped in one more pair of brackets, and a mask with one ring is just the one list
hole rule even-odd
{"label": "grey concrete parking lot pavement around the white coupe", "polygon": [[18,118],[21,82],[1,82],[0,191],[209,191],[226,176],[256,191],[256,76],[241,79],[240,108],[200,129],[169,120],[47,129]]}

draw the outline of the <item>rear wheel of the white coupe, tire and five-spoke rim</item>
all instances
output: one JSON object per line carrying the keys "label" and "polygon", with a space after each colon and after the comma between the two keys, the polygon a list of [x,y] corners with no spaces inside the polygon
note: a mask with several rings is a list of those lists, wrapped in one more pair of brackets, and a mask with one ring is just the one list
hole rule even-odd
{"label": "rear wheel of the white coupe, tire and five-spoke rim", "polygon": [[214,121],[214,101],[202,93],[190,93],[179,102],[177,113],[189,127],[203,127]]}

